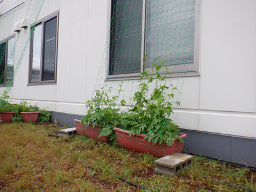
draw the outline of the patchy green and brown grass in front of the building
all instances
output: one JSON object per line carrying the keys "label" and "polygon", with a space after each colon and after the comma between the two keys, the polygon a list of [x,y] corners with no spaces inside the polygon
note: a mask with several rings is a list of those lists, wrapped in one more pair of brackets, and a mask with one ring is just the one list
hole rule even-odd
{"label": "patchy green and brown grass in front of the building", "polygon": [[[154,172],[154,156],[130,153],[85,136],[58,138],[50,124],[0,124],[0,191],[242,191],[256,190],[256,172],[196,157],[174,178]],[[102,169],[98,172],[89,169]],[[114,174],[114,175],[113,175]]]}

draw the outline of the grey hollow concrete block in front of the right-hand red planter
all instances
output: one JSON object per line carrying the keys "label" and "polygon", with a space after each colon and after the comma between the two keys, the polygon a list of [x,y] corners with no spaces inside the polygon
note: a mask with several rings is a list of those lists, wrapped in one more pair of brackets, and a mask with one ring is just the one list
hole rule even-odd
{"label": "grey hollow concrete block in front of the right-hand red planter", "polygon": [[155,160],[155,172],[162,175],[174,176],[186,166],[190,166],[193,162],[192,155],[182,153],[173,153],[163,158]]}

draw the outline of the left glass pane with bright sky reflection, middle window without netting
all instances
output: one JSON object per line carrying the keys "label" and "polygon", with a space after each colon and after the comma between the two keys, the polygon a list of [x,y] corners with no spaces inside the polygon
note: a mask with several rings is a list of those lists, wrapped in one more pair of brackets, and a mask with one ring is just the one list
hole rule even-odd
{"label": "left glass pane with bright sky reflection, middle window without netting", "polygon": [[42,49],[42,25],[35,27],[33,33],[33,55],[32,55],[32,72],[31,80],[39,80],[40,77],[40,63],[41,63],[41,49]]}

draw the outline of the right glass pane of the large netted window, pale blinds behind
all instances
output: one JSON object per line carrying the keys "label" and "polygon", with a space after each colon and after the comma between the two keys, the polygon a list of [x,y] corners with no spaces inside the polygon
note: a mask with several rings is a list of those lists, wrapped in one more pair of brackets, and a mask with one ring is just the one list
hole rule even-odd
{"label": "right glass pane of the large netted window, pale blinds behind", "polygon": [[158,57],[167,65],[193,62],[194,7],[194,0],[148,1],[147,67],[152,67],[154,58]]}

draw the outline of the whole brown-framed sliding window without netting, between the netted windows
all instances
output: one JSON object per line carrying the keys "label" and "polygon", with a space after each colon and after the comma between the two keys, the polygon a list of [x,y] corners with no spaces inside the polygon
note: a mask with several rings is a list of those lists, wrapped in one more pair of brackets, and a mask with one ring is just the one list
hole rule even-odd
{"label": "whole brown-framed sliding window without netting, between the netted windows", "polygon": [[58,13],[32,27],[29,83],[55,83],[57,72]]}

